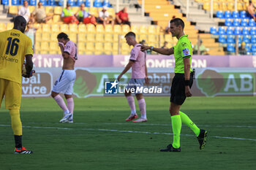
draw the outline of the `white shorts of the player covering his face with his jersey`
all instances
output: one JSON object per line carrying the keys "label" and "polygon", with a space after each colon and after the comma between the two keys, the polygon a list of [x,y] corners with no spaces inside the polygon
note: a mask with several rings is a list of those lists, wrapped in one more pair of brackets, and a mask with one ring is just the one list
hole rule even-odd
{"label": "white shorts of the player covering his face with his jersey", "polygon": [[62,70],[61,75],[53,85],[53,92],[72,95],[75,78],[75,70]]}

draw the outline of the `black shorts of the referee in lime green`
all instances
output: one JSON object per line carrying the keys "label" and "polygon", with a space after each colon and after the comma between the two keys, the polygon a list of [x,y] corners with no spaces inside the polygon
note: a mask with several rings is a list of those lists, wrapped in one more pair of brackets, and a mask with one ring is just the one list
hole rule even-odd
{"label": "black shorts of the referee in lime green", "polygon": [[[193,73],[190,73],[189,88],[193,84]],[[172,87],[170,88],[170,102],[182,105],[186,100],[185,95],[185,76],[184,74],[176,73],[173,77]]]}

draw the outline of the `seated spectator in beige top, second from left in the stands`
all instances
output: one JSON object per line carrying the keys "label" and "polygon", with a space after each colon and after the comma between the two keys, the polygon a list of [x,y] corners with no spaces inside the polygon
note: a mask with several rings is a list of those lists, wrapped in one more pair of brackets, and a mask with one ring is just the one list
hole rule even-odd
{"label": "seated spectator in beige top, second from left in the stands", "polygon": [[32,16],[34,17],[35,21],[37,21],[37,23],[47,23],[48,20],[53,18],[53,15],[46,15],[45,9],[42,7],[42,2],[39,1],[37,5],[37,9],[34,9],[32,12]]}

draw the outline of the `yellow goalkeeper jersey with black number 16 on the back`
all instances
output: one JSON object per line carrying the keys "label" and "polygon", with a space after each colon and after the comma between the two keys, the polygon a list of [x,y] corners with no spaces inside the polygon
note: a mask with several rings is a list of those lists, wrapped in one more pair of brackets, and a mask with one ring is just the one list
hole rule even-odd
{"label": "yellow goalkeeper jersey with black number 16 on the back", "polygon": [[0,78],[21,84],[25,55],[33,55],[32,41],[17,29],[0,33]]}

